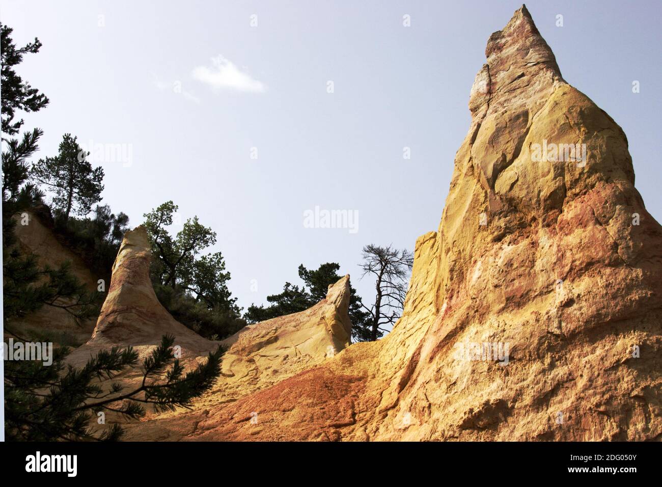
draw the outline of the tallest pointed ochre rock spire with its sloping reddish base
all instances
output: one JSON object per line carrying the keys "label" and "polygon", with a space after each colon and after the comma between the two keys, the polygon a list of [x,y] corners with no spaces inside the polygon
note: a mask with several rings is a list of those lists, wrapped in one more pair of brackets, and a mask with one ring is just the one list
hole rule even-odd
{"label": "tallest pointed ochre rock spire with its sloping reddish base", "polygon": [[393,332],[134,438],[662,438],[662,228],[626,136],[563,80],[526,7],[485,54]]}

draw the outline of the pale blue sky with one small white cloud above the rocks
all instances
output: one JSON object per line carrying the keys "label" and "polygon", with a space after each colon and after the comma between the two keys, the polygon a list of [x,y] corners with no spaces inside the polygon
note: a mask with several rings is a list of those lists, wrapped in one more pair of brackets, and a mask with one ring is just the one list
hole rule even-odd
{"label": "pale blue sky with one small white cloud above the rocks", "polygon": [[[565,80],[623,127],[636,186],[661,221],[660,3],[526,5]],[[361,247],[413,250],[437,229],[487,38],[520,6],[3,0],[0,18],[17,44],[44,44],[19,67],[51,100],[24,117],[44,129],[38,157],[64,133],[124,144],[130,164],[102,164],[103,203],[132,225],[168,199],[183,219],[198,215],[246,307],[299,282],[299,264],[328,261],[369,302]],[[306,228],[316,206],[357,212],[357,231]]]}

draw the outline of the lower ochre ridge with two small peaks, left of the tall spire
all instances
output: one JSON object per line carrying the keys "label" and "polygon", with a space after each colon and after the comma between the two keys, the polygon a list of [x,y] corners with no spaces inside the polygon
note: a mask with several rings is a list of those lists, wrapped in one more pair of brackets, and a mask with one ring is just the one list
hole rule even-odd
{"label": "lower ochre ridge with two small peaks, left of the tall spire", "polygon": [[[267,388],[329,360],[350,344],[350,276],[329,286],[326,299],[306,311],[248,325],[219,342],[197,335],[169,315],[154,294],[150,259],[145,229],[137,227],[126,232],[94,333],[85,345],[68,356],[68,363],[82,366],[91,355],[113,346],[134,347],[142,360],[166,334],[173,335],[175,346],[181,347],[181,361],[185,366],[207,360],[207,353],[218,345],[226,352],[222,356],[220,378],[213,390],[194,404],[192,411],[149,414],[142,423],[126,424],[128,439],[179,439],[190,433],[187,430],[190,425],[201,421],[195,417],[204,416],[208,407]],[[130,390],[140,380],[142,374],[136,369],[122,372],[113,382],[120,382]],[[167,428],[167,419],[172,415],[185,424],[183,431],[177,427]],[[160,420],[150,421],[154,417]],[[144,437],[143,433],[135,431],[150,433]]]}

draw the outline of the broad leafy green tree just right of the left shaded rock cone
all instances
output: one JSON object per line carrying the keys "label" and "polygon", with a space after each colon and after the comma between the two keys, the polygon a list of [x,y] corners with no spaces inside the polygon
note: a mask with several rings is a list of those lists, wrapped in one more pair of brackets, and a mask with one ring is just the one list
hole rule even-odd
{"label": "broad leafy green tree just right of the left shaded rock cone", "polygon": [[153,280],[173,290],[178,288],[189,292],[209,309],[217,307],[238,313],[236,298],[232,298],[228,290],[230,272],[225,270],[222,254],[200,255],[205,248],[216,244],[216,232],[201,225],[198,217],[193,217],[187,219],[181,231],[172,237],[166,227],[173,224],[177,209],[179,207],[172,201],[166,201],[143,215],[152,243]]}

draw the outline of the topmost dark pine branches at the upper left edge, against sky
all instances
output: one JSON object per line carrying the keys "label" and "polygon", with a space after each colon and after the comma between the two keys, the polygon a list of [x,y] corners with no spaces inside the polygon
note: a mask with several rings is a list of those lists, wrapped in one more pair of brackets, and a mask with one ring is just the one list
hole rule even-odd
{"label": "topmost dark pine branches at the upper left edge, against sky", "polygon": [[22,48],[16,48],[11,38],[13,29],[2,25],[0,27],[0,52],[2,57],[2,132],[4,135],[17,135],[23,125],[23,119],[13,121],[17,110],[25,112],[39,111],[48,105],[48,98],[39,90],[23,81],[21,76],[16,74],[14,66],[23,62],[24,54],[35,54],[39,52],[42,44],[38,38],[34,42],[29,42]]}

